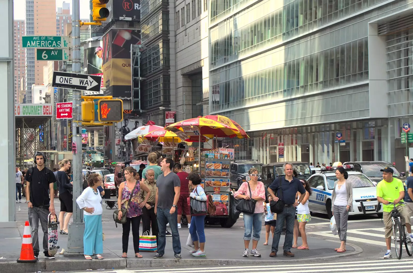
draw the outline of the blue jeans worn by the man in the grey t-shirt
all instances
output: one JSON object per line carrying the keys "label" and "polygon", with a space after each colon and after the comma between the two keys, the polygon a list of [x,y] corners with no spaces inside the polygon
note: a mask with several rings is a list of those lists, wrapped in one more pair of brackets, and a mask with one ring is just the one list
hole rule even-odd
{"label": "blue jeans worn by the man in the grey t-shirt", "polygon": [[157,222],[158,222],[158,253],[165,254],[166,245],[166,224],[169,223],[172,233],[172,249],[174,254],[180,254],[180,240],[178,233],[178,212],[175,210],[173,214],[170,214],[171,209],[157,208]]}

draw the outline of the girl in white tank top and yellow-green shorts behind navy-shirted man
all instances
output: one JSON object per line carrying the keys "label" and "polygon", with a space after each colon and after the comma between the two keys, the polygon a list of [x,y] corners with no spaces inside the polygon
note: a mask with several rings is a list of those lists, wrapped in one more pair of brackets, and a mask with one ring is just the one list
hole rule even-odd
{"label": "girl in white tank top and yellow-green shorts behind navy-shirted man", "polygon": [[[306,223],[311,220],[311,215],[310,215],[310,209],[309,209],[309,198],[312,193],[310,184],[302,179],[300,180],[301,183],[303,184],[304,188],[306,189],[306,192],[304,193],[304,199],[301,201],[301,203],[297,206],[297,222],[298,222],[298,230],[300,231],[301,234],[301,239],[303,240],[303,244],[297,249],[309,249],[309,245],[307,243],[307,235],[306,235]],[[300,193],[298,193],[298,199],[300,197]],[[297,239],[298,239],[298,230],[297,233],[294,232],[294,242],[297,245]]]}

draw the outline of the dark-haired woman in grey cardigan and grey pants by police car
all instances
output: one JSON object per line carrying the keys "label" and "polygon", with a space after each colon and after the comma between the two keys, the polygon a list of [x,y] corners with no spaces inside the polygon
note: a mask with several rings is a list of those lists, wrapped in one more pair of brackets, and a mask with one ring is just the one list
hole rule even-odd
{"label": "dark-haired woman in grey cardigan and grey pants by police car", "polygon": [[334,183],[332,198],[332,212],[337,224],[337,231],[340,237],[341,245],[334,249],[337,252],[346,251],[347,239],[347,220],[349,211],[353,204],[353,185],[347,181],[349,174],[342,166],[336,170],[337,181]]}

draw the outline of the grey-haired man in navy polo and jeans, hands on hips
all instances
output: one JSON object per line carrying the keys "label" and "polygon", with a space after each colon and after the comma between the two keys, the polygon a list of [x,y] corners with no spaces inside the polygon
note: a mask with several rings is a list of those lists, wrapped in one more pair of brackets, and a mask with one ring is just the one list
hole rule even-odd
{"label": "grey-haired man in navy polo and jeans, hands on hips", "polygon": [[[284,226],[284,221],[286,222],[287,230],[285,231],[284,246],[284,256],[293,257],[294,253],[291,253],[290,249],[292,247],[293,231],[294,231],[294,216],[295,207],[304,199],[304,193],[306,190],[301,184],[298,178],[292,176],[294,171],[294,166],[291,163],[284,164],[285,176],[279,176],[274,180],[274,182],[268,187],[268,193],[273,197],[275,201],[278,201],[278,197],[275,196],[274,192],[279,194],[282,190],[282,200],[284,200],[284,210],[282,213],[277,214],[277,224],[275,227],[275,232],[273,235],[273,244],[271,245],[270,257],[277,256],[278,244],[280,243],[280,237],[282,228]],[[295,200],[297,192],[301,193],[298,201]]]}

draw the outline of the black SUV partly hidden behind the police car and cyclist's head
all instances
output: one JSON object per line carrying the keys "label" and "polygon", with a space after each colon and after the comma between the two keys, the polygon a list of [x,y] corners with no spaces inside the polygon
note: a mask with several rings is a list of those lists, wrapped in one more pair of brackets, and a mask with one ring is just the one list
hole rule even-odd
{"label": "black SUV partly hidden behind the police car and cyclist's head", "polygon": [[399,178],[400,180],[406,180],[406,173],[397,171],[396,167],[393,166],[390,162],[386,161],[351,161],[344,162],[343,165],[353,164],[354,171],[359,171],[364,173],[365,176],[370,178],[376,183],[379,183],[383,180],[383,173],[380,171],[385,167],[390,167],[393,169],[393,176]]}

